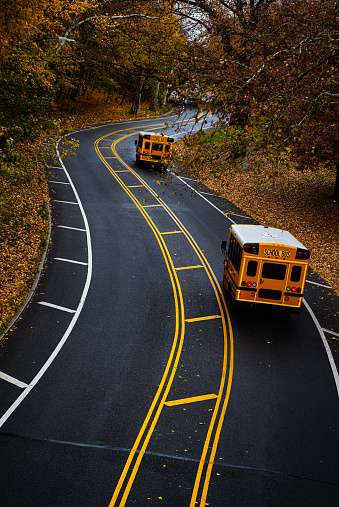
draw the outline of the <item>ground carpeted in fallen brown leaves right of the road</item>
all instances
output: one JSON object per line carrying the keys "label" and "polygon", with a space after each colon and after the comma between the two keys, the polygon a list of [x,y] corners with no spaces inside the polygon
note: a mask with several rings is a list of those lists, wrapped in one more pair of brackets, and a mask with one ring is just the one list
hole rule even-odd
{"label": "ground carpeted in fallen brown leaves right of the road", "polygon": [[249,158],[247,167],[201,157],[178,143],[176,157],[205,185],[259,223],[291,232],[311,251],[310,266],[339,295],[339,199],[331,197],[335,171],[297,170],[274,159]]}

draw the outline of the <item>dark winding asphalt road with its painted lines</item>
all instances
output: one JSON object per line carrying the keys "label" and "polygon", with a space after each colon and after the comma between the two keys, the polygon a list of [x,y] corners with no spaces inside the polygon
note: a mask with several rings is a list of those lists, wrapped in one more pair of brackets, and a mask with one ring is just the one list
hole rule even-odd
{"label": "dark winding asphalt road with its painted lines", "polygon": [[310,272],[301,315],[228,311],[220,243],[253,221],[135,164],[173,119],[76,132],[47,171],[45,267],[0,346],[4,507],[339,504],[338,298]]}

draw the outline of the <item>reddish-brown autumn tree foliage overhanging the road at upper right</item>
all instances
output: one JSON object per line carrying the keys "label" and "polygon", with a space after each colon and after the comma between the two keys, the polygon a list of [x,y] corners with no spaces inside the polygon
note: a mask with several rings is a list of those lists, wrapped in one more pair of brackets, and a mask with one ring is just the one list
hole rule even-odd
{"label": "reddish-brown autumn tree foliage overhanging the road at upper right", "polygon": [[173,9],[195,23],[193,90],[221,127],[237,127],[233,155],[269,149],[300,168],[338,169],[338,1],[192,0]]}

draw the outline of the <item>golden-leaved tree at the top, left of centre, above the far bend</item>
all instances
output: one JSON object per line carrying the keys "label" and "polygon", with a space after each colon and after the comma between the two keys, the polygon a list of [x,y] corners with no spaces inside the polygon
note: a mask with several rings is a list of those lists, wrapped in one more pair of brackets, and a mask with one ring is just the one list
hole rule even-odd
{"label": "golden-leaved tree at the top, left of centre, above the far bend", "polygon": [[153,81],[155,90],[160,88],[159,79],[167,72],[166,62],[173,62],[179,41],[178,23],[162,7],[157,1],[136,0],[78,1],[67,9],[61,2],[49,7],[41,39],[58,33],[76,39],[72,45],[57,43],[51,61],[58,96],[74,98],[89,84],[107,92],[123,89],[123,95],[127,88],[136,97],[146,81],[148,85]]}

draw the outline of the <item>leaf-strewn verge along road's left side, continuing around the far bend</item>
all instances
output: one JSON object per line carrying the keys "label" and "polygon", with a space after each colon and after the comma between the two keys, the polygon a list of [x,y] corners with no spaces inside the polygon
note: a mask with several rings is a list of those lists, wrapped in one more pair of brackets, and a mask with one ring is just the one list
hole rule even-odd
{"label": "leaf-strewn verge along road's left side, continuing around the far bend", "polygon": [[[49,112],[58,124],[51,132],[41,132],[35,143],[17,143],[0,151],[0,336],[25,302],[47,245],[49,195],[42,163],[38,160],[41,143],[61,131],[80,129],[123,119],[133,119],[131,104],[120,105],[121,96],[92,93],[87,99],[64,102]],[[142,104],[138,118],[153,113]]]}

